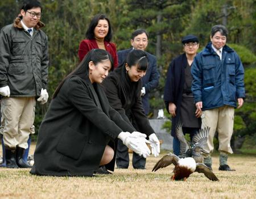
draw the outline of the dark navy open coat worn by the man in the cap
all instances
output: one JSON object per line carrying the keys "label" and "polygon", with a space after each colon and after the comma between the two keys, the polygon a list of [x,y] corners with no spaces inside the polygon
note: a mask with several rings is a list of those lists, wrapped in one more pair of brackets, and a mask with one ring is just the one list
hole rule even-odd
{"label": "dark navy open coat worn by the man in the cap", "polygon": [[166,85],[164,86],[164,103],[166,104],[168,113],[169,103],[176,105],[176,117],[172,117],[172,136],[176,136],[175,126],[180,119],[180,105],[185,82],[184,69],[187,64],[186,54],[183,53],[172,60],[167,71]]}

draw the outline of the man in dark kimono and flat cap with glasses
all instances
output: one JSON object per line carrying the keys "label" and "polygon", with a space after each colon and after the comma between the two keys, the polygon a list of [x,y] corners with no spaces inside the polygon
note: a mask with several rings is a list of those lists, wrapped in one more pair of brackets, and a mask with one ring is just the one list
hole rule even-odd
{"label": "man in dark kimono and flat cap with glasses", "polygon": [[188,133],[191,139],[201,126],[201,112],[196,110],[191,92],[191,65],[199,49],[199,40],[196,36],[187,35],[181,42],[185,53],[170,63],[164,87],[164,102],[168,113],[172,116],[171,135],[174,137],[175,155],[180,154],[180,141],[175,132],[177,123],[182,123],[183,132]]}

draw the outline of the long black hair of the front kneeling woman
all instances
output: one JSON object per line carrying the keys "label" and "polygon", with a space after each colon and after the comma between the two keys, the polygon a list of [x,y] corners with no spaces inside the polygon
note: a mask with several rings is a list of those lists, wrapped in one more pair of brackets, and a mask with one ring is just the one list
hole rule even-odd
{"label": "long black hair of the front kneeling woman", "polygon": [[114,69],[114,61],[112,56],[109,54],[109,52],[107,52],[104,49],[92,49],[90,50],[86,56],[84,57],[84,59],[81,61],[81,63],[76,67],[75,70],[73,70],[71,73],[69,73],[67,75],[67,77],[65,77],[63,79],[63,81],[60,82],[59,86],[57,86],[56,90],[53,93],[52,99],[54,99],[58,92],[60,91],[61,86],[63,85],[63,83],[66,81],[66,79],[68,79],[69,77],[71,77],[72,75],[75,76],[80,76],[80,77],[88,77],[89,76],[89,62],[92,61],[94,63],[94,65],[97,65],[97,63],[100,63],[102,61],[105,60],[109,60],[111,63],[111,71]]}

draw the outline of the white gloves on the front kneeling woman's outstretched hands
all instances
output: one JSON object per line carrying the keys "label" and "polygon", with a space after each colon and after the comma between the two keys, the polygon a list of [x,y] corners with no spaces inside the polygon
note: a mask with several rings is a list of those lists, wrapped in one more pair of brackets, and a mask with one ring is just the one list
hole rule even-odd
{"label": "white gloves on the front kneeling woman's outstretched hands", "polygon": [[148,149],[146,142],[146,135],[134,132],[133,134],[129,132],[121,132],[118,135],[118,138],[123,141],[123,144],[129,147],[138,155],[143,155],[144,158],[147,158],[150,155],[150,149]]}

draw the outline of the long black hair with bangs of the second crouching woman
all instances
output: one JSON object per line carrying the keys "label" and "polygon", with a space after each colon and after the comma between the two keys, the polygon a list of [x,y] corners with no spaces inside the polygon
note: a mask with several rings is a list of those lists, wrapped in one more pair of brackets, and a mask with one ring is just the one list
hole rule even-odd
{"label": "long black hair with bangs of the second crouching woman", "polygon": [[126,61],[114,70],[114,72],[121,75],[121,87],[126,93],[126,98],[129,99],[134,94],[138,98],[141,95],[141,79],[138,82],[131,82],[126,72],[126,63],[129,67],[137,66],[137,69],[146,71],[148,67],[147,54],[143,50],[133,49],[127,54]]}

